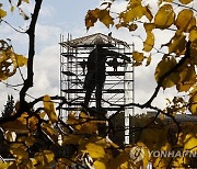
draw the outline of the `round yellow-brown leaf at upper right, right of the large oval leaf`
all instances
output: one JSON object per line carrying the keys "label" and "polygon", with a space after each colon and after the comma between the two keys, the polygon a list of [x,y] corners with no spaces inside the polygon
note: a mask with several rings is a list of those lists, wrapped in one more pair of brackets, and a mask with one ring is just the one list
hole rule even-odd
{"label": "round yellow-brown leaf at upper right, right of the large oval leaf", "polygon": [[194,12],[188,9],[182,10],[177,15],[175,25],[178,30],[184,32],[189,32],[193,30],[193,27],[196,26],[196,18],[194,16]]}

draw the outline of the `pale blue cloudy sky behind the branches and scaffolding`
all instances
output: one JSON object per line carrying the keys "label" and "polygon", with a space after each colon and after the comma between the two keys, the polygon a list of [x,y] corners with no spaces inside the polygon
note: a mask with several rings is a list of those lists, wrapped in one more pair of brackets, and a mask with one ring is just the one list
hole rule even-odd
{"label": "pale blue cloudy sky behind the branches and scaffolding", "polygon": [[[151,3],[157,0],[150,0]],[[72,34],[73,38],[84,36],[88,34],[102,32],[107,34],[113,31],[113,36],[119,40],[126,41],[127,43],[135,43],[138,48],[142,48],[142,42],[132,37],[128,30],[119,29],[106,29],[102,23],[96,23],[93,29],[89,32],[85,30],[84,18],[89,9],[99,7],[101,0],[44,0],[40,14],[36,26],[36,55],[35,55],[35,76],[34,76],[34,88],[28,91],[32,97],[40,97],[43,94],[57,95],[59,94],[59,36],[63,34],[67,36],[68,33]],[[113,5],[115,11],[124,10],[126,1],[119,0]],[[33,9],[33,4],[25,4],[22,7],[24,11],[30,13]],[[25,29],[28,21],[25,23],[24,20],[16,14],[9,14],[5,19],[14,27]],[[11,38],[14,49],[19,54],[27,54],[27,36],[13,31],[10,26],[2,24],[0,30],[0,38]],[[141,30],[135,32],[137,35],[141,35],[143,38],[144,34],[141,34]],[[157,34],[157,33],[155,33]],[[161,36],[161,32],[157,36],[161,36],[159,40],[162,42],[167,41],[170,36]],[[158,60],[158,59],[157,59]],[[155,65],[157,60],[152,61]],[[23,68],[25,70],[25,68]],[[144,102],[152,94],[155,88],[154,82],[154,67],[142,67],[136,68],[136,101]],[[23,71],[25,76],[25,71]],[[151,82],[150,82],[151,81]],[[9,78],[8,83],[22,83],[20,75],[15,75]],[[148,88],[149,86],[149,88]],[[20,89],[20,88],[19,88]],[[19,92],[12,88],[8,88],[4,84],[0,84],[0,110],[7,100],[7,94],[13,94],[14,99],[19,99]],[[164,100],[166,97],[172,98],[172,93],[166,93],[162,97]],[[28,98],[31,99],[31,98]],[[165,105],[165,102],[161,102],[161,98],[155,101],[155,104]]]}

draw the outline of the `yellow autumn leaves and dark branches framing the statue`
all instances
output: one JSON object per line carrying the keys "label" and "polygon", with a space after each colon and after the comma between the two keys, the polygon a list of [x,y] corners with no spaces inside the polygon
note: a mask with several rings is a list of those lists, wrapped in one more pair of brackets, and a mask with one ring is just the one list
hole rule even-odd
{"label": "yellow autumn leaves and dark branches framing the statue", "polygon": [[[158,3],[154,1],[150,4],[143,0],[128,0],[127,8],[119,13],[113,12],[112,7],[116,1],[112,0],[89,10],[85,15],[86,30],[96,22],[102,22],[106,27],[128,29],[130,33],[135,33],[140,25],[143,26],[143,47],[137,48],[130,56],[134,66],[151,66],[151,59],[157,57],[152,54],[162,55],[154,69],[157,87],[150,99],[144,103],[119,106],[120,111],[125,106],[137,106],[157,112],[152,117],[135,117],[136,126],[131,133],[135,133],[136,140],[124,147],[107,137],[109,133],[116,132],[112,123],[115,115],[106,119],[90,116],[91,110],[81,103],[83,111],[80,114],[71,112],[63,121],[58,116],[58,109],[62,104],[72,104],[65,98],[46,94],[31,102],[26,101],[25,95],[33,87],[35,26],[43,0],[34,1],[32,15],[20,8],[22,3],[28,3],[28,0],[18,0],[16,4],[12,0],[9,2],[10,11],[5,11],[3,3],[0,3],[0,24],[8,24],[7,12],[18,9],[24,20],[31,20],[28,29],[23,32],[28,35],[30,45],[28,56],[25,57],[16,54],[9,41],[0,40],[0,81],[14,76],[23,66],[27,70],[27,78],[19,93],[20,101],[12,108],[9,116],[0,119],[0,168],[127,169],[146,168],[149,164],[152,168],[197,167],[196,158],[189,156],[192,153],[197,155],[197,124],[179,123],[175,119],[176,114],[197,115],[195,0],[158,0]],[[169,30],[173,33],[172,38],[160,48],[155,47],[159,41],[155,38],[155,30]],[[152,102],[160,90],[167,88],[176,90],[177,95],[172,100],[167,99],[166,108],[161,110]],[[170,122],[166,123],[166,119]],[[100,126],[106,122],[108,126],[101,135]],[[139,154],[134,156],[136,150]],[[161,158],[151,156],[153,150],[179,150],[188,154],[184,157]],[[5,161],[5,158],[12,160]]]}

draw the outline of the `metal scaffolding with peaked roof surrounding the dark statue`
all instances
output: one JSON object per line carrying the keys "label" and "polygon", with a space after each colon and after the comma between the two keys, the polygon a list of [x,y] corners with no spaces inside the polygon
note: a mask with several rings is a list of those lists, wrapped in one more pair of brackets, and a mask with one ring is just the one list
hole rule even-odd
{"label": "metal scaffolding with peaked roof surrounding the dark statue", "polygon": [[[86,70],[86,63],[90,53],[96,46],[96,40],[102,40],[103,47],[119,54],[131,56],[134,45],[114,38],[102,33],[83,36],[72,40],[68,34],[66,41],[60,35],[60,95],[72,104],[63,104],[60,109],[60,117],[66,120],[69,112],[80,112],[79,105],[84,102],[85,90],[83,89]],[[97,55],[99,56],[99,55]],[[130,57],[131,58],[131,57]],[[97,58],[100,59],[100,58]],[[131,63],[126,63],[123,58],[117,58],[118,66],[113,67],[113,57],[106,58],[106,79],[102,90],[102,108],[107,115],[119,110],[118,104],[134,102],[134,67]],[[89,106],[96,106],[95,90],[93,91]],[[129,116],[134,115],[134,108],[125,108],[125,143],[129,143]]]}

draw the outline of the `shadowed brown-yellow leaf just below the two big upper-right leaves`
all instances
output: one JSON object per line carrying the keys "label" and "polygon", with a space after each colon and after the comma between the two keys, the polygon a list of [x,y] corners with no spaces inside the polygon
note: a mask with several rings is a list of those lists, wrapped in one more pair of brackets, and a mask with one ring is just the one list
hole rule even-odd
{"label": "shadowed brown-yellow leaf just below the two big upper-right leaves", "polygon": [[181,55],[186,46],[186,40],[185,35],[183,33],[179,33],[178,31],[176,34],[172,37],[169,44],[169,53],[175,53]]}

